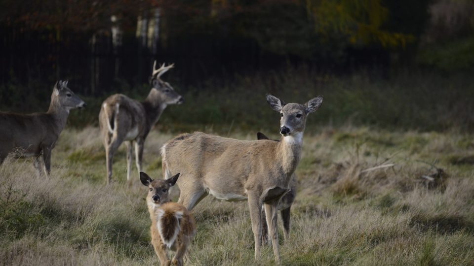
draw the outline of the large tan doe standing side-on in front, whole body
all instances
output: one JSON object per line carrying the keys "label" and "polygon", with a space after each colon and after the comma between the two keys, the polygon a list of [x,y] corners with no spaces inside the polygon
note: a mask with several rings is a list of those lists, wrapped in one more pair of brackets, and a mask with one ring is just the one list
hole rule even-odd
{"label": "large tan doe standing side-on in front, whole body", "polygon": [[265,206],[276,262],[280,262],[276,207],[290,189],[291,177],[300,161],[308,114],[322,103],[318,96],[306,104],[285,104],[267,95],[280,113],[279,142],[238,140],[204,133],[181,134],[161,148],[166,178],[181,172],[178,202],[191,210],[208,194],[217,199],[248,200],[255,241],[255,259],[260,258],[261,210]]}

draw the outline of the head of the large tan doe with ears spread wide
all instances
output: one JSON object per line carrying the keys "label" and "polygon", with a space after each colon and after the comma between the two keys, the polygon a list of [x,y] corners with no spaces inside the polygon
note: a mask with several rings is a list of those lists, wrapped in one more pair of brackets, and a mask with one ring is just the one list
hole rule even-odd
{"label": "head of the large tan doe with ears spread wide", "polygon": [[296,135],[305,131],[306,118],[315,112],[322,103],[322,96],[309,100],[305,104],[285,103],[283,100],[267,94],[267,101],[281,115],[280,133],[283,136]]}

